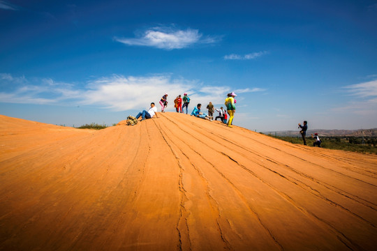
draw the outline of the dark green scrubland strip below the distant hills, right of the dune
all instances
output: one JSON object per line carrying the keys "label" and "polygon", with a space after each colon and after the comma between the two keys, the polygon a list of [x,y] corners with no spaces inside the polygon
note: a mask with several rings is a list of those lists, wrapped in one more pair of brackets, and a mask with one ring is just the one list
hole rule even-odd
{"label": "dark green scrubland strip below the distant hills, right of the dune", "polygon": [[[293,144],[304,144],[302,137],[282,137],[269,134],[268,136],[281,139]],[[320,137],[320,147],[325,149],[336,149],[343,151],[353,151],[357,153],[377,154],[377,137]],[[306,144],[313,146],[314,139],[306,137]],[[317,146],[316,146],[317,147]]]}

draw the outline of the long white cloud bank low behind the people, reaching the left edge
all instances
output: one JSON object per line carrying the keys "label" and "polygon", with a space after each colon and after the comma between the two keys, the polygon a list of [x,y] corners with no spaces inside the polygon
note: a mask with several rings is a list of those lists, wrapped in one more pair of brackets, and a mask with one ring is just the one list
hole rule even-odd
{"label": "long white cloud bank low behind the people, reaching the left edge", "polygon": [[[222,105],[228,86],[208,86],[198,80],[172,78],[172,75],[124,77],[112,75],[93,79],[85,84],[57,82],[53,79],[27,79],[0,74],[0,102],[39,105],[88,105],[112,111],[145,109],[150,102],[158,103],[163,93],[169,94],[170,105],[179,94],[187,92],[191,103]],[[10,87],[9,87],[10,86]],[[245,89],[250,91],[250,89]],[[245,91],[244,90],[244,91]],[[241,91],[239,92],[241,93]]]}

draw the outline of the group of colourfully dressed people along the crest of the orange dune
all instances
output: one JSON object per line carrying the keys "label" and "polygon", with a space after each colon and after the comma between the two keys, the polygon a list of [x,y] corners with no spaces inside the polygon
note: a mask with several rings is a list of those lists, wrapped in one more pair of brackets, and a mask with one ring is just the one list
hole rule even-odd
{"label": "group of colourfully dressed people along the crest of the orange dune", "polygon": [[[196,116],[201,119],[208,119],[209,121],[213,121],[214,118],[214,111],[216,110],[219,112],[219,116],[216,116],[215,121],[217,119],[220,119],[223,123],[227,123],[229,127],[232,127],[232,121],[235,116],[235,96],[237,96],[234,92],[228,93],[227,98],[225,100],[225,105],[227,112],[230,116],[229,121],[227,123],[227,114],[226,111],[221,107],[220,109],[216,109],[214,105],[212,105],[212,102],[209,102],[207,105],[208,109],[208,114],[202,113],[201,112],[201,107],[202,104],[198,104],[196,107],[194,107],[193,112],[191,112],[191,116]],[[165,93],[161,100],[160,100],[160,105],[161,105],[161,112],[165,112],[165,108],[168,106],[168,93]],[[175,103],[175,109],[177,112],[184,113],[183,109],[186,107],[186,114],[188,114],[188,104],[190,103],[190,98],[188,97],[187,93],[184,93],[184,97],[181,98],[181,95],[177,96],[174,100]],[[183,103],[183,105],[182,105]],[[136,119],[139,119],[140,116],[142,117],[141,121],[145,119],[151,119],[154,116],[158,117],[157,114],[157,107],[154,105],[154,102],[151,102],[151,107],[149,107],[149,110],[143,110],[142,112],[139,112],[138,115],[136,116]]]}

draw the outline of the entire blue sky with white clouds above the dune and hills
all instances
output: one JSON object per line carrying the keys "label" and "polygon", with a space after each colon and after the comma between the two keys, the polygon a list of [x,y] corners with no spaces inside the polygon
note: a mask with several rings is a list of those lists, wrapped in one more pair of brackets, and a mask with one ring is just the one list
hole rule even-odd
{"label": "entire blue sky with white clouds above the dune and hills", "polygon": [[377,128],[377,1],[7,0],[0,23],[6,116],[111,125],[235,91],[258,132]]}

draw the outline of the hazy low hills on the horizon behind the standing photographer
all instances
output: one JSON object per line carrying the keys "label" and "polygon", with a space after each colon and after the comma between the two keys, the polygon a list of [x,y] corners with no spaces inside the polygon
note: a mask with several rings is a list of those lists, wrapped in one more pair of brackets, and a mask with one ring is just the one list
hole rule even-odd
{"label": "hazy low hills on the horizon behind the standing photographer", "polygon": [[[377,128],[373,129],[357,129],[357,130],[337,130],[337,129],[332,129],[332,130],[325,130],[325,129],[314,129],[314,130],[308,130],[306,132],[306,135],[310,135],[311,133],[317,132],[318,135],[323,135],[323,136],[354,136],[354,137],[362,137],[364,136],[369,136],[369,137],[377,137]],[[276,136],[296,136],[299,135],[299,130],[286,130],[286,131],[271,131],[271,132],[263,132],[263,134],[271,134],[271,135],[276,135]]]}

